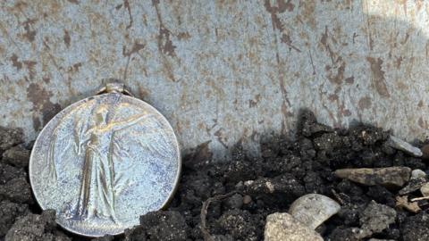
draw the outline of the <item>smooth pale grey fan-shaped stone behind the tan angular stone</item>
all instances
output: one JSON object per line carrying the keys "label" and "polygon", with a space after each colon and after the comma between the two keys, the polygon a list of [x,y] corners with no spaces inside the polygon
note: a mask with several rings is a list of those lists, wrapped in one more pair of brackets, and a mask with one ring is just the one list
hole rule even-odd
{"label": "smooth pale grey fan-shaped stone behind the tan angular stone", "polygon": [[289,213],[308,228],[316,229],[340,210],[340,204],[331,198],[325,195],[309,194],[295,200],[290,205]]}

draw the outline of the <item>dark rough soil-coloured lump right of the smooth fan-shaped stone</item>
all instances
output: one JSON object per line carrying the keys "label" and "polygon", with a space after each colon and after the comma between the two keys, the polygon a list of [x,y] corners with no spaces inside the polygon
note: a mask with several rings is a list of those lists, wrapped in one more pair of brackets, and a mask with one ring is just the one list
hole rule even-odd
{"label": "dark rough soil-coloured lump right of the smooth fan-shaped stone", "polygon": [[395,219],[396,211],[393,208],[371,201],[371,203],[366,206],[359,221],[361,229],[364,230],[365,233],[376,234],[389,228],[389,225],[394,223]]}

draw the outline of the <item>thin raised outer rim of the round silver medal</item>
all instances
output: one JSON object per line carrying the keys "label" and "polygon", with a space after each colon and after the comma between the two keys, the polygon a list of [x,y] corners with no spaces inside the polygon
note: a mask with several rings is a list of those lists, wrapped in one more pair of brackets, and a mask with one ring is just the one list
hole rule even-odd
{"label": "thin raised outer rim of the round silver medal", "polygon": [[[34,145],[33,145],[33,147],[31,148],[31,154],[29,155],[29,185],[30,185],[30,187],[31,187],[31,191],[32,191],[32,193],[33,193],[33,195],[34,195],[34,197],[35,197],[35,199],[36,199],[36,202],[38,203],[38,205],[40,206],[40,208],[42,209],[42,211],[46,211],[46,207],[44,207],[42,204],[40,204],[40,199],[39,199],[39,197],[38,197],[38,195],[37,195],[37,193],[35,192],[35,190],[34,190],[34,188],[33,188],[33,176],[34,176],[34,174],[32,174],[32,167],[33,167],[33,164],[34,164],[34,162],[36,162],[36,161],[34,161],[34,159],[35,159],[35,157],[34,157],[34,153],[35,153],[35,146],[37,146],[38,145],[38,143],[40,142],[40,140],[41,140],[41,138],[44,136],[43,134],[44,134],[44,132],[46,131],[46,127],[47,126],[49,126],[50,124],[52,124],[52,122],[55,120],[55,118],[56,118],[56,116],[58,115],[58,114],[60,114],[60,113],[62,113],[62,112],[66,112],[66,111],[72,111],[72,108],[73,107],[76,107],[76,106],[79,106],[79,104],[82,104],[82,103],[85,103],[85,102],[88,102],[88,101],[90,101],[90,100],[92,100],[92,99],[96,99],[96,98],[102,98],[103,96],[117,96],[117,95],[122,95],[122,98],[130,98],[130,99],[132,99],[133,101],[137,101],[139,104],[143,104],[144,106],[146,106],[146,107],[148,107],[149,109],[151,109],[151,111],[153,111],[153,112],[155,112],[156,114],[158,114],[159,116],[160,116],[160,118],[162,119],[162,120],[164,120],[165,121],[165,123],[167,124],[167,126],[168,126],[168,129],[170,129],[171,131],[172,131],[172,137],[174,137],[174,140],[173,140],[173,142],[175,143],[175,145],[176,145],[176,151],[177,151],[177,154],[178,154],[178,158],[177,158],[177,173],[176,173],[176,177],[175,177],[175,179],[174,179],[174,182],[173,182],[173,188],[172,188],[172,192],[170,193],[170,195],[168,195],[168,197],[165,199],[165,201],[164,201],[164,203],[161,205],[161,207],[158,209],[158,210],[156,210],[156,211],[160,211],[160,210],[164,210],[165,208],[166,208],[166,206],[168,205],[168,204],[170,204],[171,202],[172,202],[172,199],[173,199],[173,197],[174,197],[174,195],[175,195],[175,193],[176,193],[176,191],[177,191],[177,189],[178,189],[178,187],[179,187],[179,182],[180,182],[180,179],[181,179],[181,169],[182,169],[182,167],[181,167],[181,165],[182,165],[182,160],[181,160],[181,145],[180,145],[180,143],[179,143],[179,140],[178,140],[178,138],[177,138],[177,136],[176,136],[176,133],[174,132],[174,129],[172,129],[172,124],[170,123],[170,121],[168,121],[166,118],[165,118],[165,116],[161,113],[161,112],[159,112],[154,106],[152,106],[151,104],[148,104],[147,102],[145,102],[145,101],[143,101],[143,100],[141,100],[141,99],[139,99],[139,98],[136,98],[136,97],[134,97],[134,96],[128,96],[128,95],[124,95],[124,94],[122,94],[122,93],[105,93],[105,94],[99,94],[99,95],[96,95],[96,96],[88,96],[88,97],[86,97],[86,98],[83,98],[83,99],[81,99],[81,100],[79,100],[79,101],[77,101],[77,102],[75,102],[75,103],[73,103],[73,104],[70,104],[70,105],[68,105],[67,107],[65,107],[63,110],[61,110],[60,112],[57,112],[56,114],[55,114],[55,116],[51,119],[51,120],[49,120],[47,123],[46,123],[46,125],[43,127],[43,129],[42,130],[40,130],[40,132],[39,132],[39,134],[38,134],[38,137],[36,138],[36,140],[35,140],[35,142],[34,142]],[[56,210],[55,210],[55,212],[56,212]],[[145,213],[146,214],[146,213]],[[145,214],[142,214],[142,215],[145,215]],[[140,215],[141,216],[141,215]],[[84,234],[84,233],[80,233],[80,232],[78,232],[77,230],[74,230],[74,229],[71,229],[71,228],[68,228],[68,227],[66,227],[65,225],[63,225],[62,223],[60,223],[59,221],[58,221],[58,213],[55,213],[55,222],[58,224],[58,225],[60,225],[63,229],[66,229],[66,230],[68,230],[68,231],[70,231],[71,233],[73,233],[73,234],[77,234],[77,235],[80,235],[80,236],[82,236],[82,237],[104,237],[105,235],[110,235],[110,236],[116,236],[116,235],[120,235],[120,234],[122,234],[122,233],[124,233],[124,231],[125,231],[125,229],[123,229],[122,231],[119,231],[119,232],[112,232],[112,233],[108,233],[108,234],[104,234],[104,235],[90,235],[90,234]],[[128,227],[128,228],[126,228],[126,229],[131,229],[132,227]]]}

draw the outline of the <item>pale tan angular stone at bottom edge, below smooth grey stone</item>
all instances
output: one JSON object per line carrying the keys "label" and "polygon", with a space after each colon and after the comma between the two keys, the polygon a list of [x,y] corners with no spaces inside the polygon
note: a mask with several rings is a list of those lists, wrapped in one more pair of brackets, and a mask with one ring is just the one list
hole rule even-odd
{"label": "pale tan angular stone at bottom edge, below smooth grey stone", "polygon": [[275,212],[266,217],[265,241],[323,241],[315,230],[295,220],[289,213]]}

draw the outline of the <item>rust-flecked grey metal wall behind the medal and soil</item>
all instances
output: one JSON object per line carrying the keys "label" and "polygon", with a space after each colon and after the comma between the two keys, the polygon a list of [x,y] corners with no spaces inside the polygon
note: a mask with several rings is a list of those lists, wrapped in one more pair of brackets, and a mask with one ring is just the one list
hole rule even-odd
{"label": "rust-flecked grey metal wall behind the medal and soil", "polygon": [[427,135],[426,1],[2,1],[0,124],[27,139],[120,78],[216,157],[242,139],[362,120]]}

